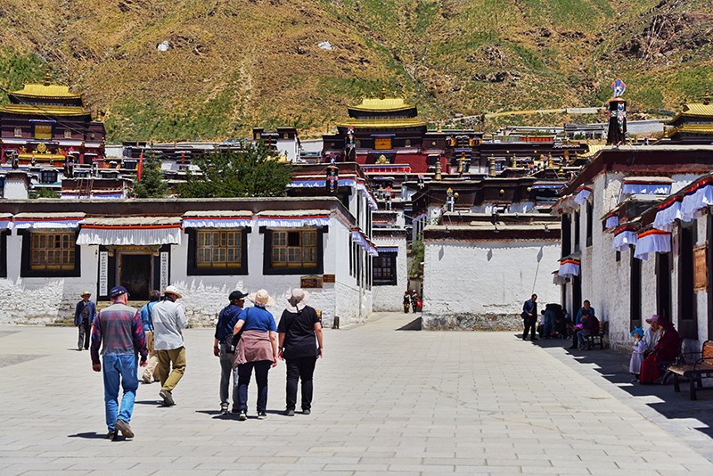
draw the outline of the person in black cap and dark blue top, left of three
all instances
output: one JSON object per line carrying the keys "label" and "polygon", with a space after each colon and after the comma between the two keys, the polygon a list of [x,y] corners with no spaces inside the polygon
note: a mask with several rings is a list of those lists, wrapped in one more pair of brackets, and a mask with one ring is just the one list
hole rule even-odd
{"label": "person in black cap and dark blue top, left of three", "polygon": [[245,305],[247,294],[233,291],[228,296],[228,304],[217,316],[215,341],[213,341],[213,355],[220,357],[220,414],[228,413],[230,404],[228,387],[230,375],[233,374],[233,413],[240,412],[238,408],[238,369],[233,368],[235,348],[233,347],[233,328],[238,324],[238,316]]}

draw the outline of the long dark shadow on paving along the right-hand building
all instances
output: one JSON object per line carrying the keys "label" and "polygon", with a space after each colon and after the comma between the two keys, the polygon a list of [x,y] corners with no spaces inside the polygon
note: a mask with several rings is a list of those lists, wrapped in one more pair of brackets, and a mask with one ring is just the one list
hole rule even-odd
{"label": "long dark shadow on paving along the right-hand building", "polygon": [[[519,339],[522,334],[515,334]],[[524,344],[524,342],[523,342]],[[632,382],[633,375],[629,373],[630,356],[612,349],[578,350],[569,349],[571,339],[538,339],[531,343],[543,349],[560,347],[564,348],[570,356],[581,364],[592,364],[594,370],[602,377],[613,383],[619,389],[626,391],[634,397],[655,397],[655,401],[646,405],[657,411],[669,420],[694,419],[697,431],[713,439],[713,391],[697,393],[697,400],[691,400],[688,392],[688,382],[681,381],[681,391],[674,391],[672,382],[667,385],[641,385]]]}

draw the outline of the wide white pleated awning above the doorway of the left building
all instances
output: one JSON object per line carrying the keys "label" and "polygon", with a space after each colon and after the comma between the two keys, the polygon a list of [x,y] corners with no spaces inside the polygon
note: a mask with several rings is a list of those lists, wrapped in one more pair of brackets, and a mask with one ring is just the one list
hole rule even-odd
{"label": "wide white pleated awning above the doorway of the left building", "polygon": [[181,244],[181,235],[180,217],[87,218],[77,244]]}

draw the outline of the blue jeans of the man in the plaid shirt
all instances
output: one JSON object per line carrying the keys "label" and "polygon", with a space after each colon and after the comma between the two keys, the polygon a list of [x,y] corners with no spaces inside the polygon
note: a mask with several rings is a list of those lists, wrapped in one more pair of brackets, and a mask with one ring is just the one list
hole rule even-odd
{"label": "blue jeans of the man in the plaid shirt", "polygon": [[[131,354],[104,354],[102,358],[104,380],[104,414],[109,431],[115,431],[117,419],[126,423],[134,413],[134,400],[139,379],[136,374],[137,358]],[[119,407],[119,384],[124,390]]]}

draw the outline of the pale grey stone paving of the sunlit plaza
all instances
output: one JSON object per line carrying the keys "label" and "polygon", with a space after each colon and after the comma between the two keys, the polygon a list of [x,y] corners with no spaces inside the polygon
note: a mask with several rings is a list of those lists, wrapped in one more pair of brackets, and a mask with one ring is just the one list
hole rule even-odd
{"label": "pale grey stone paving of the sunlit plaza", "polygon": [[[142,384],[135,439],[114,442],[103,439],[101,375],[72,349],[76,329],[4,327],[0,474],[713,474],[713,440],[685,416],[685,392],[660,389],[680,409],[671,419],[561,344],[397,330],[413,318],[326,330],[313,414],[278,413],[281,363],[268,418],[255,418],[251,387],[242,423],[217,414],[212,330],[188,330],[177,405],[159,406],[159,385]],[[621,357],[593,352],[625,375]],[[701,393],[699,405],[711,400]]]}

